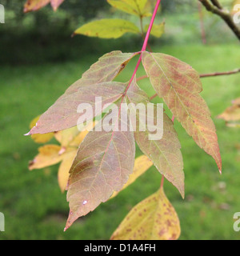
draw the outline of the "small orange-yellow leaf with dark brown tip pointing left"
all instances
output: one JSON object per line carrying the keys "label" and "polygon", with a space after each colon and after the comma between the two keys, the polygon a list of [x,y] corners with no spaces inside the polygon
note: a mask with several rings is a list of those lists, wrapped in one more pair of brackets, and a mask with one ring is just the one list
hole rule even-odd
{"label": "small orange-yellow leaf with dark brown tip pointing left", "polygon": [[64,154],[61,154],[63,152],[61,146],[45,145],[41,146],[38,151],[39,154],[29,164],[30,170],[53,166],[64,158]]}

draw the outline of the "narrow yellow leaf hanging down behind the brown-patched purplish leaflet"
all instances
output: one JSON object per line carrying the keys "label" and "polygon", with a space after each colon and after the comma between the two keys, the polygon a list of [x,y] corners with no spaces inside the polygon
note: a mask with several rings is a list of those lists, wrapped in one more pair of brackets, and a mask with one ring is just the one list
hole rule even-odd
{"label": "narrow yellow leaf hanging down behind the brown-patched purplish leaflet", "polygon": [[74,162],[74,158],[76,157],[78,150],[72,150],[69,153],[64,155],[64,158],[58,169],[58,184],[62,191],[66,190],[67,181],[69,178],[69,171]]}

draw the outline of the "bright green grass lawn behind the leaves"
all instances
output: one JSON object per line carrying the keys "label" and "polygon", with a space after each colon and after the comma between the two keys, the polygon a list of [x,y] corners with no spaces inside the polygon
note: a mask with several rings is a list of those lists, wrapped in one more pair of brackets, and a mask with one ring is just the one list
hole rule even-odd
{"label": "bright green grass lawn behind the leaves", "polygon": [[[239,66],[240,50],[234,44],[159,46],[154,51],[172,54],[199,73]],[[161,175],[151,168],[117,198],[78,219],[64,233],[68,203],[66,194],[58,188],[58,166],[31,172],[27,169],[38,149],[30,138],[23,136],[29,130],[30,120],[53,104],[98,57],[86,56],[63,64],[1,67],[0,212],[5,214],[6,231],[0,233],[0,239],[108,239],[134,205],[158,190]],[[122,79],[130,78],[134,62],[129,65]],[[186,199],[182,200],[169,182],[165,183],[165,191],[178,212],[181,239],[239,239],[240,233],[233,230],[233,215],[240,211],[240,168],[235,148],[240,143],[239,130],[226,128],[216,118],[232,99],[240,96],[239,75],[206,78],[202,82],[202,97],[217,126],[222,176],[214,160],[176,122],[184,158]],[[140,86],[149,88],[147,81]],[[148,89],[148,94],[153,94],[153,90]]]}

